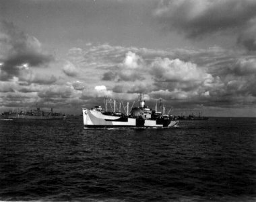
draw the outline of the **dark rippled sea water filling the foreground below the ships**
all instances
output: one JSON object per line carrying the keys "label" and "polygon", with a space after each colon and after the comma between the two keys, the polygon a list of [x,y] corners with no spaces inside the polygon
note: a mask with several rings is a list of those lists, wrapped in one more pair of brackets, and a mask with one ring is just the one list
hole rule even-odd
{"label": "dark rippled sea water filling the foreground below the ships", "polygon": [[1,201],[256,201],[256,119],[84,130],[0,121]]}

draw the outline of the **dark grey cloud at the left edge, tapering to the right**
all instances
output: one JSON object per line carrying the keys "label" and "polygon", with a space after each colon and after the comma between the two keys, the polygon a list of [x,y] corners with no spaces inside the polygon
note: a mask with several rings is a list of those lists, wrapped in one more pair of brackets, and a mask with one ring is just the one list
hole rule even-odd
{"label": "dark grey cloud at the left edge, tapering to the right", "polygon": [[53,60],[42,52],[40,42],[9,22],[0,22],[1,80],[19,77],[20,67],[41,67]]}

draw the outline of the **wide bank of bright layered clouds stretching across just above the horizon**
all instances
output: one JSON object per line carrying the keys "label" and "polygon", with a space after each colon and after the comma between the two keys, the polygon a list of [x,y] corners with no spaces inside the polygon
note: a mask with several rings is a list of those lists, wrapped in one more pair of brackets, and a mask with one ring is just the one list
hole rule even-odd
{"label": "wide bank of bright layered clouds stretching across just above the horizon", "polygon": [[[4,91],[1,102],[18,104],[18,98],[4,102],[11,91],[31,97],[24,98],[28,103],[37,100],[53,106],[94,106],[102,104],[105,96],[137,100],[139,93],[143,93],[148,100],[162,98],[176,106],[181,103],[187,107],[199,104],[251,106],[256,102],[256,62],[253,55],[245,56],[244,53],[219,47],[153,50],[90,44],[85,50],[69,50],[68,61],[65,61],[65,65],[71,67],[65,69],[69,73],[68,83],[67,77],[57,79],[44,71],[39,74],[38,69],[28,63],[18,65],[18,77],[5,81],[13,83],[10,88],[0,83]],[[57,63],[57,67],[53,73],[64,72],[63,62]],[[72,71],[77,70],[76,67],[79,67],[77,75]]]}

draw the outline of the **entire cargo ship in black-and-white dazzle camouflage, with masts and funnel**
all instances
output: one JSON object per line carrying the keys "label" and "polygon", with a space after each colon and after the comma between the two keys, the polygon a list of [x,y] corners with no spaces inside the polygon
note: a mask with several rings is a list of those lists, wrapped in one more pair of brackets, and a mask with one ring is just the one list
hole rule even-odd
{"label": "entire cargo ship in black-and-white dazzle camouflage, with masts and funnel", "polygon": [[[84,129],[90,128],[170,128],[176,127],[179,121],[174,120],[172,115],[164,114],[157,110],[152,110],[139,96],[139,106],[129,110],[129,102],[127,106],[123,102],[119,103],[119,111],[117,112],[117,102],[115,100],[106,100],[105,110],[101,106],[94,106],[94,108],[83,108]],[[108,111],[108,104],[113,111]],[[133,102],[134,104],[134,102]],[[125,114],[121,112],[121,105],[123,105]]]}

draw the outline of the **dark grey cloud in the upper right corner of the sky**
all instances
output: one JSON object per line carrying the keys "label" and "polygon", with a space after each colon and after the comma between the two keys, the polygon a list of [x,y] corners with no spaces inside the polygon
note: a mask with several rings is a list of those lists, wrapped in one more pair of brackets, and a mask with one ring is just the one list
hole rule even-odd
{"label": "dark grey cloud in the upper right corner of the sky", "polygon": [[164,28],[195,38],[241,28],[256,17],[255,9],[251,0],[170,0],[161,1],[154,15]]}

